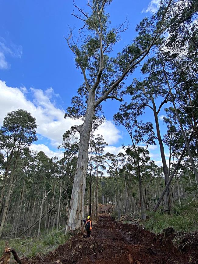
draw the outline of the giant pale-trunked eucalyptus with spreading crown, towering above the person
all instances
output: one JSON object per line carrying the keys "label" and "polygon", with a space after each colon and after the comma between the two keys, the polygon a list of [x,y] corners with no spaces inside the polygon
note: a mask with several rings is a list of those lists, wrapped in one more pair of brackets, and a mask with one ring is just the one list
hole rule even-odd
{"label": "giant pale-trunked eucalyptus with spreading crown, towering above the person", "polygon": [[107,99],[122,100],[123,80],[133,73],[136,66],[149,54],[150,49],[160,41],[164,31],[179,16],[175,11],[172,12],[172,7],[177,1],[162,1],[157,14],[151,19],[143,19],[136,27],[138,35],[133,43],[127,45],[115,58],[111,58],[108,54],[120,40],[119,33],[127,28],[124,23],[117,28],[109,28],[105,8],[111,2],[111,0],[88,1],[90,12],[75,5],[79,13],[73,15],[83,22],[79,32],[82,32],[82,29],[87,30],[87,35],[83,37],[81,43],[79,42],[82,34],[75,42],[72,30],[68,37],[65,37],[75,55],[76,66],[84,77],[84,83],[78,90],[79,96],[72,98],[73,106],[68,108],[68,113],[65,115],[73,118],[83,116],[83,124],[76,126],[76,130],[80,133],[80,146],[66,231],[79,232],[84,228],[81,219],[83,219],[90,131],[95,110],[99,109],[101,102]]}

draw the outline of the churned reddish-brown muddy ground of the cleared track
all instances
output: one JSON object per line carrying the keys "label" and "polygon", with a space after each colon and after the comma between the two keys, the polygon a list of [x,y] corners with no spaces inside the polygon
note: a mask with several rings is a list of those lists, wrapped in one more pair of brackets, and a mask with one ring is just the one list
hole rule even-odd
{"label": "churned reddish-brown muddy ground of the cleared track", "polygon": [[[197,264],[196,248],[179,251],[171,239],[171,228],[155,235],[137,225],[120,224],[101,215],[93,227],[92,237],[72,237],[45,256],[23,264]],[[184,247],[185,248],[185,247]]]}

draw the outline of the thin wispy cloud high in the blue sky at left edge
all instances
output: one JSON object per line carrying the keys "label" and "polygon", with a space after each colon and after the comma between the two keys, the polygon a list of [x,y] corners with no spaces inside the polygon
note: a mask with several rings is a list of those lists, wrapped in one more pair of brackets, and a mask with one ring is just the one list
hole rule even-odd
{"label": "thin wispy cloud high in the blue sky at left edge", "polygon": [[5,39],[0,37],[0,69],[8,69],[9,63],[6,61],[6,56],[11,56],[13,58],[21,58],[22,56],[22,46],[16,46],[10,43],[9,46],[6,45]]}

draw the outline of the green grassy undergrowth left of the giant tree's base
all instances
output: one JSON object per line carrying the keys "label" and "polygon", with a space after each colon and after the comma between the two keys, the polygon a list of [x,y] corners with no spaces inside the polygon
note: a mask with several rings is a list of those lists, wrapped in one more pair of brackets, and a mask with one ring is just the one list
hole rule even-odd
{"label": "green grassy undergrowth left of the giant tree's base", "polygon": [[[37,253],[44,255],[49,251],[54,250],[60,244],[64,244],[69,239],[68,234],[64,234],[64,231],[59,233],[50,233],[48,235],[42,235],[39,239],[36,237],[22,238],[22,239],[10,239],[8,244],[10,248],[14,248],[19,257],[31,258]],[[0,254],[2,255],[5,248],[5,240],[0,240]],[[13,261],[13,257],[12,257]],[[11,263],[14,263],[12,262]]]}

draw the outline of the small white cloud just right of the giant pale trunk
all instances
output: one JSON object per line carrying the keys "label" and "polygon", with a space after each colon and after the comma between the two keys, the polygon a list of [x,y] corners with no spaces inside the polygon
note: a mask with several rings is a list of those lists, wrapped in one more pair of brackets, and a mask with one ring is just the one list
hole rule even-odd
{"label": "small white cloud just right of the giant pale trunk", "polygon": [[122,138],[120,131],[115,127],[111,120],[105,120],[105,122],[96,130],[94,134],[103,135],[104,141],[108,144],[114,144]]}

